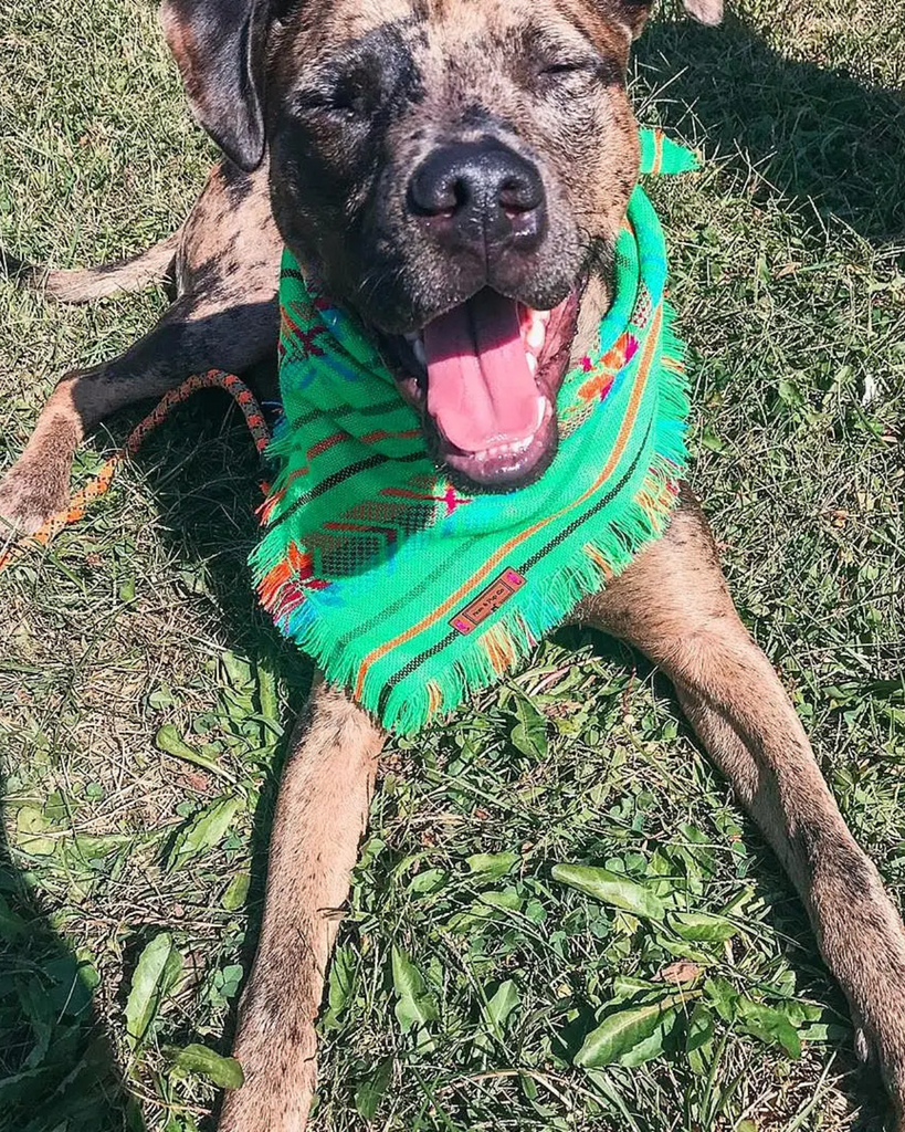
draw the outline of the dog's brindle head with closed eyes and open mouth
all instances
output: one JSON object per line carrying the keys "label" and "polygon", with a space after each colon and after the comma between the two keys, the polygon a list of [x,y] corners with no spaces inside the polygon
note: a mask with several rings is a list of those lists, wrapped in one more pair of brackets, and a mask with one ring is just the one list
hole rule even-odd
{"label": "dog's brindle head with closed eyes and open mouth", "polygon": [[[653,0],[166,0],[226,154],[269,151],[287,246],[379,338],[438,464],[536,479],[585,288],[638,172],[626,94]],[[719,18],[722,0],[688,0]]]}

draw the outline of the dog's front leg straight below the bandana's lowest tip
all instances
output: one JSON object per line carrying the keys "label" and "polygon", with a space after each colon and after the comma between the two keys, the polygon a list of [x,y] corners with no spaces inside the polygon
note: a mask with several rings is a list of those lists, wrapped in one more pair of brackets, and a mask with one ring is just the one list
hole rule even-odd
{"label": "dog's front leg straight below the bandana's lowest tip", "polygon": [[283,771],[264,923],[239,1010],[245,1083],[226,1094],[219,1132],[302,1132],[308,1122],[314,1019],[382,744],[361,709],[316,686]]}

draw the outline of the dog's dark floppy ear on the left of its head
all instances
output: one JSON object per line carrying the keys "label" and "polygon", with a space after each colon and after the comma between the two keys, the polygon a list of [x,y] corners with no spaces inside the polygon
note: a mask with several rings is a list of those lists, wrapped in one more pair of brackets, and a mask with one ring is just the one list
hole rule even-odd
{"label": "dog's dark floppy ear on the left of its head", "polygon": [[195,117],[236,165],[256,169],[270,0],[164,0],[161,23]]}

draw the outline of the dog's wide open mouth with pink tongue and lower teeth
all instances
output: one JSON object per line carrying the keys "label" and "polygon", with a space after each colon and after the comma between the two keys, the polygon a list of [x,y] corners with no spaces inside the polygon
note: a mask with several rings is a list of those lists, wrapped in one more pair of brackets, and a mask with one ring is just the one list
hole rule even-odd
{"label": "dog's wide open mouth with pink tongue and lower teeth", "polygon": [[393,341],[400,388],[421,411],[440,466],[498,491],[544,472],[577,315],[577,292],[544,311],[485,288]]}

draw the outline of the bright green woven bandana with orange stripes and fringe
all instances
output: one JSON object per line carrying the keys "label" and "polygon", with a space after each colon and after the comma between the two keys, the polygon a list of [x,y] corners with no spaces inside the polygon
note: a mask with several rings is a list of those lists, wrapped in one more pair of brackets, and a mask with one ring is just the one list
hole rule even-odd
{"label": "bright green woven bandana with orange stripes and fringe", "polygon": [[[641,172],[693,168],[641,131]],[[284,254],[285,420],[251,561],[279,629],[385,727],[416,731],[500,679],[663,533],[688,414],[665,281],[663,231],[637,187],[600,341],[559,392],[550,468],[509,495],[472,495],[430,461],[359,323]]]}

